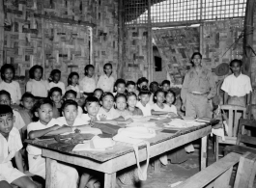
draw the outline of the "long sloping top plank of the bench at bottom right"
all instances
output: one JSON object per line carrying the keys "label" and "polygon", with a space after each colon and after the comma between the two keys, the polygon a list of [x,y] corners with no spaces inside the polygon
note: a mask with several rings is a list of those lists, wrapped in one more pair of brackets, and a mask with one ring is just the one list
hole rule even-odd
{"label": "long sloping top plank of the bench at bottom right", "polygon": [[207,169],[197,173],[186,179],[180,185],[175,188],[200,188],[210,184],[216,177],[222,175],[227,170],[236,165],[240,160],[241,155],[238,153],[229,153],[225,157],[219,159],[213,165],[209,166]]}

